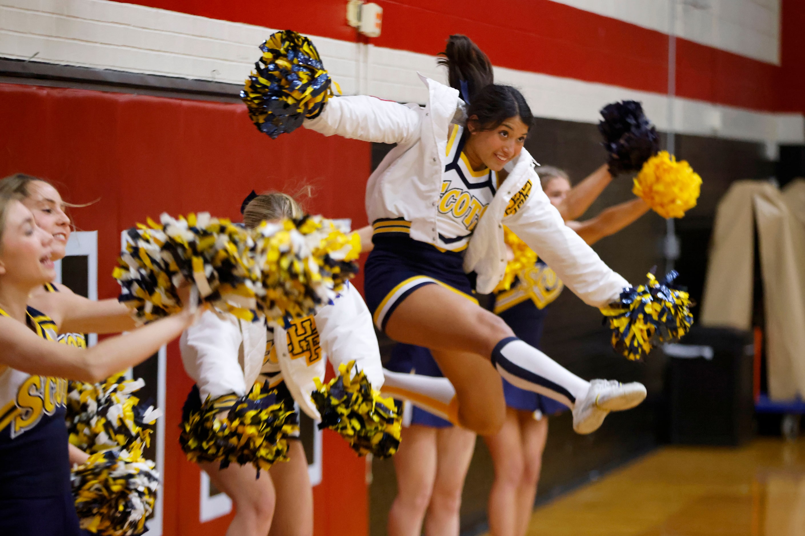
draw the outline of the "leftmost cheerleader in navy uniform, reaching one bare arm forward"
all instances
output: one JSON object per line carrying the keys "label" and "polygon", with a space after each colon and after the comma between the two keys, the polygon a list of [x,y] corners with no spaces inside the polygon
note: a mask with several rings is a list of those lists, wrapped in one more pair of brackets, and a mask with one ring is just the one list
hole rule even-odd
{"label": "leftmost cheerleader in navy uniform, reaching one bare arm forward", "polygon": [[50,233],[0,196],[0,527],[3,534],[81,534],[70,490],[67,380],[101,381],[145,361],[188,328],[183,311],[93,348],[56,343],[58,322],[28,306],[55,277]]}

